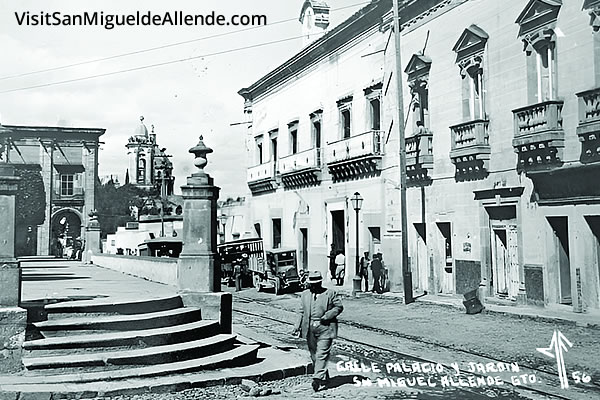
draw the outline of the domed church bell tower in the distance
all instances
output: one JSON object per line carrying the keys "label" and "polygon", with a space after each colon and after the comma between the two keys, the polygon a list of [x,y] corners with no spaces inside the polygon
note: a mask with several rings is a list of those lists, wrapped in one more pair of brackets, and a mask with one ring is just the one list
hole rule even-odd
{"label": "domed church bell tower in the distance", "polygon": [[159,147],[154,125],[148,132],[144,125],[144,117],[140,117],[140,124],[135,129],[133,136],[129,137],[126,147],[129,168],[125,183],[131,183],[146,190],[162,187],[164,196],[172,195],[175,185],[173,163],[165,153],[166,148]]}

